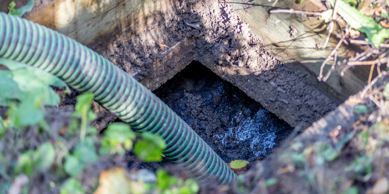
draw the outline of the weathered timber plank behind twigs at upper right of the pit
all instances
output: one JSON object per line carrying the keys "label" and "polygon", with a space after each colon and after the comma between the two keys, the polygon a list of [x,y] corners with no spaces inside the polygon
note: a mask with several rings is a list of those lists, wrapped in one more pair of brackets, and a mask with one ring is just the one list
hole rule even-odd
{"label": "weathered timber plank behind twigs at upper right of the pit", "polygon": [[[325,83],[319,82],[320,65],[335,48],[338,39],[332,37],[326,49],[324,45],[327,32],[326,25],[317,18],[307,19],[305,16],[290,14],[269,14],[270,9],[295,9],[322,11],[325,10],[320,2],[304,1],[300,6],[292,0],[281,0],[272,7],[274,1],[268,0],[231,0],[231,4],[244,22],[247,22],[253,33],[258,35],[267,49],[275,57],[290,66],[301,76],[306,76],[315,85],[318,85],[326,93],[335,97],[338,102],[344,101],[350,95],[357,93],[367,84],[369,67],[355,67],[340,76],[341,68],[331,74]],[[292,37],[290,30],[297,30],[296,36]],[[354,55],[350,48],[344,45],[338,49],[337,60]],[[331,68],[326,65],[324,74]]]}

